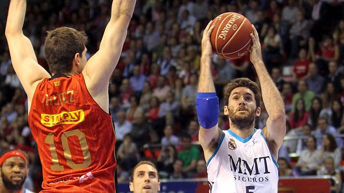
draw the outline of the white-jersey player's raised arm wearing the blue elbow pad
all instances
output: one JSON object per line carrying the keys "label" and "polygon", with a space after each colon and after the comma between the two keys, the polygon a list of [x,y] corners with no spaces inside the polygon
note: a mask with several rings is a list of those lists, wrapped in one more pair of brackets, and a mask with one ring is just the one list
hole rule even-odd
{"label": "white-jersey player's raised arm wearing the blue elbow pad", "polygon": [[[211,111],[215,111],[214,108],[211,108],[210,105],[207,105],[204,102],[208,102],[209,100],[204,101],[205,96],[200,96],[200,93],[215,93],[215,87],[213,84],[212,76],[211,76],[211,58],[214,55],[211,49],[211,44],[210,44],[210,34],[212,31],[213,27],[211,26],[210,21],[208,25],[205,27],[203,31],[203,37],[201,41],[201,57],[200,57],[200,72],[199,72],[199,80],[198,80],[198,88],[197,88],[197,99],[196,99],[196,108],[197,108],[197,116],[198,116],[198,121],[200,121],[201,117],[205,117],[205,119],[209,120],[208,116],[210,115],[201,115],[201,113],[208,113],[211,114]],[[210,98],[210,97],[205,97],[205,98]],[[217,97],[216,97],[217,98]],[[198,101],[197,101],[198,100]],[[217,99],[218,101],[218,99]],[[201,106],[210,106],[210,110],[203,110],[203,108],[200,108]],[[218,102],[217,106],[215,107],[218,110]],[[203,111],[202,111],[203,110]],[[217,120],[217,119],[216,119]],[[204,128],[202,127],[201,123],[199,133],[198,133],[198,139],[199,143],[203,148],[204,151],[204,158],[205,161],[207,161],[212,153],[215,151],[216,145],[220,139],[220,129],[218,129],[218,122],[215,122],[209,126],[210,128]]]}

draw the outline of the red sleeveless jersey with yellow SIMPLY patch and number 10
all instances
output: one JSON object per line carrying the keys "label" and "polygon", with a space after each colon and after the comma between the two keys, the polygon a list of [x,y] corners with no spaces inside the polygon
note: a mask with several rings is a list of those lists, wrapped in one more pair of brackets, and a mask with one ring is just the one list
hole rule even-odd
{"label": "red sleeveless jersey with yellow SIMPLY patch and number 10", "polygon": [[111,115],[90,96],[82,74],[38,83],[28,121],[42,164],[41,193],[115,192]]}

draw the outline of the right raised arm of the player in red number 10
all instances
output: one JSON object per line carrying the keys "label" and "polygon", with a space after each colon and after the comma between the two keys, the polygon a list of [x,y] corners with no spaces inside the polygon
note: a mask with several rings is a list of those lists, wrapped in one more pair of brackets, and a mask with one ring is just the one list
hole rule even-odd
{"label": "right raised arm of the player in red number 10", "polygon": [[93,98],[107,92],[108,80],[119,60],[136,0],[113,0],[110,20],[99,50],[87,61],[82,74]]}

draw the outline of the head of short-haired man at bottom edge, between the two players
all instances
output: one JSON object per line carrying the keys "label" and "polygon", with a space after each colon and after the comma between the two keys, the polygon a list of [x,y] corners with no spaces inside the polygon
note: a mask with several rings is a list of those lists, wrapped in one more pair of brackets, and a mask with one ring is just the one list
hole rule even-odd
{"label": "head of short-haired man at bottom edge, between the two players", "polygon": [[159,176],[150,161],[140,161],[132,170],[129,189],[133,193],[157,193],[160,191]]}

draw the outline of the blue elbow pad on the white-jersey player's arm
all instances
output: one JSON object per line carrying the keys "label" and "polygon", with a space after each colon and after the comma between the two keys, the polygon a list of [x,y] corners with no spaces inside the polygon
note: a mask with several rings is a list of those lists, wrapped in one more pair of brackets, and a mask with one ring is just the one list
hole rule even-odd
{"label": "blue elbow pad on the white-jersey player's arm", "polygon": [[197,93],[195,99],[199,125],[210,129],[218,122],[218,98],[216,93]]}

